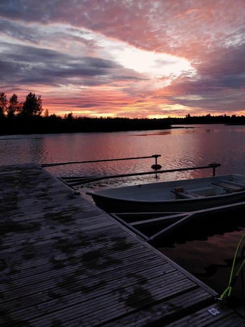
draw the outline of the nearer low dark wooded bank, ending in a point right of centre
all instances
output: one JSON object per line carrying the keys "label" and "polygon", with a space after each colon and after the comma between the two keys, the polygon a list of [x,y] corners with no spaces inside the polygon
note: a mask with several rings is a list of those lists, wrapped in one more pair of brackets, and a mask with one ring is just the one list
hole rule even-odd
{"label": "nearer low dark wooded bank, ending in a point right of centre", "polygon": [[12,117],[0,119],[0,134],[112,132],[171,128],[169,119]]}

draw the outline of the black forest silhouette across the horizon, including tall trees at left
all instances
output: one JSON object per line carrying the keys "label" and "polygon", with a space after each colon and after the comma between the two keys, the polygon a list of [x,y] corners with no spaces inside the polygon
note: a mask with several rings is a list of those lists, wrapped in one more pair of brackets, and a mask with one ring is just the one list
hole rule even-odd
{"label": "black forest silhouette across the horizon, including tall trees at left", "polygon": [[16,94],[9,100],[0,93],[0,135],[73,133],[73,132],[113,132],[129,130],[169,129],[172,125],[225,124],[245,125],[245,116],[191,116],[184,118],[126,118],[126,117],[74,117],[70,112],[64,117],[51,114],[46,109],[43,114],[41,96],[29,93],[23,103]]}

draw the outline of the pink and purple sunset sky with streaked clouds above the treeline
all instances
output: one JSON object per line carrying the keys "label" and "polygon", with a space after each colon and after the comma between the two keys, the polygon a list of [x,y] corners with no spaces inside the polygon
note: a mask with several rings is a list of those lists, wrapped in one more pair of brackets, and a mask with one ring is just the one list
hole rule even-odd
{"label": "pink and purple sunset sky with streaked clouds above the treeline", "polygon": [[0,75],[60,116],[245,115],[245,0],[0,0]]}

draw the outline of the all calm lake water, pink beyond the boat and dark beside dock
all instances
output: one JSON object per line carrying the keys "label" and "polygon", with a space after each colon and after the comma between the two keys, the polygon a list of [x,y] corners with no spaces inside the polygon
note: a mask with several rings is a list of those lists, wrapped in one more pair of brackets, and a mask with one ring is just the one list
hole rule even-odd
{"label": "all calm lake water, pink beyond the boat and dark beside dock", "polygon": [[[187,128],[188,127],[188,128]],[[190,128],[192,127],[192,128]],[[193,125],[170,130],[127,131],[113,133],[69,133],[0,136],[0,165],[36,162],[71,162],[127,158],[161,154],[162,169],[206,166],[220,163],[216,175],[236,173],[245,176],[245,126]],[[102,176],[151,170],[154,159],[123,160],[105,163],[73,164],[47,168],[54,176]],[[212,170],[197,170],[104,180],[81,189],[104,188],[182,178],[211,176]],[[91,201],[90,198],[87,199]],[[186,268],[206,284],[222,292],[228,284],[230,267],[237,244],[244,235],[243,213],[233,227],[211,230],[202,236],[190,236],[183,229],[179,238],[159,245],[159,250]],[[215,218],[215,217],[214,217]],[[222,217],[223,219],[223,217]],[[218,227],[222,226],[219,221]],[[217,227],[217,226],[216,226]],[[198,229],[198,224],[196,230]],[[240,282],[240,281],[239,281]],[[241,288],[241,284],[237,286]],[[236,291],[237,292],[237,291]]]}

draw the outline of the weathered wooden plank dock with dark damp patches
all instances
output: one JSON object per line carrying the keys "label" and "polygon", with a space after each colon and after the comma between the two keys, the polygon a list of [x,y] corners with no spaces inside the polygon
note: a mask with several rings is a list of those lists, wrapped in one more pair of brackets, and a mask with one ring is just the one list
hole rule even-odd
{"label": "weathered wooden plank dock with dark damp patches", "polygon": [[1,327],[245,326],[212,289],[39,165],[1,166],[0,185]]}

